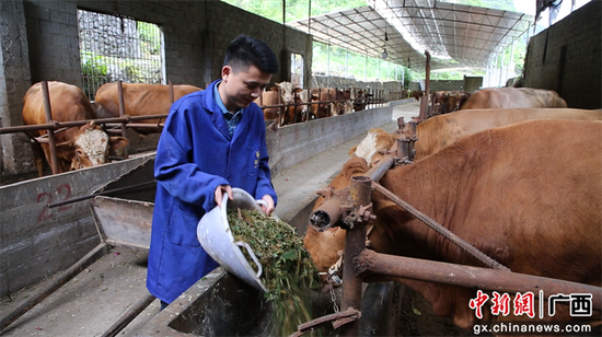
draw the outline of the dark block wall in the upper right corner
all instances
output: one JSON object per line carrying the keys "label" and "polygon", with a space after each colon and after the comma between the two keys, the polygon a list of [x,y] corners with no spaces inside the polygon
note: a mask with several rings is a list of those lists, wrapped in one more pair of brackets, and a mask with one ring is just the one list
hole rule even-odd
{"label": "dark block wall in the upper right corner", "polygon": [[533,36],[523,85],[554,90],[569,107],[602,107],[601,14],[602,1],[591,1]]}

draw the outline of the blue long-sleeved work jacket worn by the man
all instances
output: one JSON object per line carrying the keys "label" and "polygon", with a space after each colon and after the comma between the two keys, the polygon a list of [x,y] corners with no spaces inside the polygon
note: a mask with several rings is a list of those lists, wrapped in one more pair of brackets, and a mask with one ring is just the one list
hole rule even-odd
{"label": "blue long-sleeved work jacket worn by the man", "polygon": [[157,147],[157,197],[152,218],[147,288],[171,303],[218,264],[200,246],[200,218],[217,206],[219,185],[240,187],[256,199],[270,195],[264,113],[244,108],[232,137],[213,97],[205,91],[175,102]]}

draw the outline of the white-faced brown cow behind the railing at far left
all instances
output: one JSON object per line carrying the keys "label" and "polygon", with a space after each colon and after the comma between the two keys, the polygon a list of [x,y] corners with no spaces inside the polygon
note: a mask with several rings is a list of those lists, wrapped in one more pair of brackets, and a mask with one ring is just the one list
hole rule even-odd
{"label": "white-faced brown cow behind the railing at far left", "polygon": [[[54,121],[76,121],[96,119],[96,112],[84,92],[76,85],[48,82],[50,111]],[[46,124],[42,83],[32,85],[23,97],[23,124]],[[46,135],[46,130],[31,131],[35,137]],[[120,149],[128,143],[123,137],[108,137],[96,124],[71,127],[55,133],[58,172],[68,172],[82,167],[104,164],[108,161],[108,148]],[[47,143],[32,143],[37,173],[43,176],[42,150],[48,163],[51,162]]]}

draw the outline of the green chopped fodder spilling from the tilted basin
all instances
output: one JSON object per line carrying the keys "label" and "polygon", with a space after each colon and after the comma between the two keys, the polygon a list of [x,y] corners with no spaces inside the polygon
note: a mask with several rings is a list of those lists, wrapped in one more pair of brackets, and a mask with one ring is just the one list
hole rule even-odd
{"label": "green chopped fodder spilling from the tilted basin", "polygon": [[[228,210],[228,222],[234,240],[246,242],[262,264],[265,299],[274,307],[274,335],[297,332],[299,324],[312,319],[306,290],[320,282],[303,240],[290,224],[258,211]],[[256,269],[246,249],[242,252]]]}

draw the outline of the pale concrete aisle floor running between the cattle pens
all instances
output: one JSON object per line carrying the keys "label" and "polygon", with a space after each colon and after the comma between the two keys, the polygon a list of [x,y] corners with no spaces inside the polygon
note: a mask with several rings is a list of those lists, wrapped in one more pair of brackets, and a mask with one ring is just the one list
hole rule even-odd
{"label": "pale concrete aisle floor running between the cattle pens", "polygon": [[[381,127],[397,129],[397,117],[409,120],[418,116],[419,104],[412,102],[393,108],[391,123]],[[315,199],[315,191],[326,187],[349,159],[348,151],[366,133],[279,172],[273,177],[279,202],[276,213],[285,221]],[[2,330],[2,336],[102,336],[124,313],[143,299],[146,290],[146,253],[127,247],[114,247],[67,284]],[[51,279],[23,289],[0,300],[0,317],[5,317],[27,298],[38,293]],[[159,312],[155,300],[118,336],[136,336]]]}

